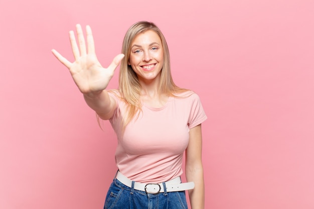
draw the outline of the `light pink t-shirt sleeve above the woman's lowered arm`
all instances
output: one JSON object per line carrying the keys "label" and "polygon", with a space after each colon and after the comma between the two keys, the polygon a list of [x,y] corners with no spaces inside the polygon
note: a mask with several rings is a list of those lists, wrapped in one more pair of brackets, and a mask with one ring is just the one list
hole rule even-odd
{"label": "light pink t-shirt sleeve above the woman's lowered arm", "polygon": [[200,97],[194,93],[189,98],[191,99],[191,110],[188,127],[191,129],[203,123],[207,119],[207,116],[203,109]]}

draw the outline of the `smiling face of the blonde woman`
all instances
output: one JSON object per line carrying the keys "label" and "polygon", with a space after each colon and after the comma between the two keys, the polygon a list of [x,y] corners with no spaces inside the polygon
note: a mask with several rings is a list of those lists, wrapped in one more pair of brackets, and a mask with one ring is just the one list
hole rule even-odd
{"label": "smiling face of the blonde woman", "polygon": [[139,80],[159,78],[164,65],[162,40],[154,31],[146,31],[135,36],[131,43],[128,61]]}

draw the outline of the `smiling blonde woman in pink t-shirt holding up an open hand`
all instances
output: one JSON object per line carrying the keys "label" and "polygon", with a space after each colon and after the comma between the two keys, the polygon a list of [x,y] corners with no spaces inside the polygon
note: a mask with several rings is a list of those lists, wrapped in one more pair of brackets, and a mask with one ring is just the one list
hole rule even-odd
{"label": "smiling blonde woman in pink t-shirt holding up an open hand", "polygon": [[[122,54],[107,69],[95,55],[89,26],[86,39],[80,25],[70,42],[75,61],[56,50],[56,58],[69,70],[86,103],[117,134],[117,174],[104,208],[204,209],[201,123],[206,115],[197,94],[173,82],[170,55],[164,35],[149,22],[138,22],[127,31]],[[120,65],[119,89],[106,90]],[[186,178],[182,161],[186,151]]]}

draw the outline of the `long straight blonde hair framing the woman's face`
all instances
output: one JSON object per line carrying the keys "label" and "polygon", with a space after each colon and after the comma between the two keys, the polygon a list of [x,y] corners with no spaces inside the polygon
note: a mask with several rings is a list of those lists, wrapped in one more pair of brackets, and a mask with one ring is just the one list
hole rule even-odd
{"label": "long straight blonde hair framing the woman's face", "polygon": [[161,82],[158,90],[159,94],[176,97],[174,95],[175,93],[188,91],[186,89],[179,88],[173,81],[170,69],[169,48],[161,30],[155,24],[147,21],[141,21],[133,24],[127,30],[124,36],[122,44],[122,54],[124,54],[125,56],[121,61],[119,71],[119,91],[122,99],[128,105],[127,116],[126,118],[123,118],[122,121],[123,129],[133,119],[135,114],[139,114],[139,112],[141,111],[141,86],[136,73],[133,71],[132,67],[128,65],[131,51],[131,43],[138,34],[144,33],[149,30],[154,31],[156,34],[159,35],[162,41],[162,47],[164,51],[164,65],[161,71]]}

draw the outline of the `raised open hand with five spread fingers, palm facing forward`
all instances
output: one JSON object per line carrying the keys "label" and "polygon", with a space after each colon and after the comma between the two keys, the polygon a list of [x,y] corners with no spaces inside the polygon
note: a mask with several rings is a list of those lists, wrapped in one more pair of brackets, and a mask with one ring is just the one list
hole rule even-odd
{"label": "raised open hand with five spread fingers, palm facing forward", "polygon": [[103,68],[95,54],[95,45],[91,28],[86,26],[87,52],[83,31],[80,25],[76,25],[78,45],[73,31],[69,32],[72,52],[75,61],[71,63],[56,50],[52,50],[55,57],[65,65],[72,75],[79,90],[88,96],[101,93],[113,76],[114,70],[119,65],[124,55],[117,55],[108,68]]}

